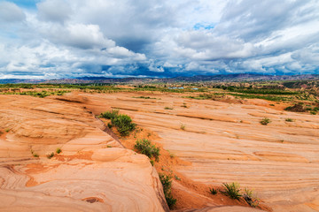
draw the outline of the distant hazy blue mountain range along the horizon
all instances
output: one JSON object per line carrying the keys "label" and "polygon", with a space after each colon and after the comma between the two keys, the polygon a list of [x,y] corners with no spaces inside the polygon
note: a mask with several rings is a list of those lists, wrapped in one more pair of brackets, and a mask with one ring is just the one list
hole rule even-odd
{"label": "distant hazy blue mountain range along the horizon", "polygon": [[154,83],[154,82],[200,82],[200,81],[268,81],[268,80],[309,80],[319,79],[319,74],[302,75],[262,75],[252,73],[219,74],[219,75],[197,75],[193,77],[175,78],[105,78],[105,77],[83,77],[78,79],[0,79],[0,84],[7,83],[53,83],[53,84],[87,84],[87,83]]}

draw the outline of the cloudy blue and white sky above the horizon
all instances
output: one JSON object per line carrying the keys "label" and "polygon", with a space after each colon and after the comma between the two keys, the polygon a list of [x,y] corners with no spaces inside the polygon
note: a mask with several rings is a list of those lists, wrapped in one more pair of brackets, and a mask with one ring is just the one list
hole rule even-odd
{"label": "cloudy blue and white sky above the horizon", "polygon": [[0,0],[0,79],[319,74],[318,0]]}

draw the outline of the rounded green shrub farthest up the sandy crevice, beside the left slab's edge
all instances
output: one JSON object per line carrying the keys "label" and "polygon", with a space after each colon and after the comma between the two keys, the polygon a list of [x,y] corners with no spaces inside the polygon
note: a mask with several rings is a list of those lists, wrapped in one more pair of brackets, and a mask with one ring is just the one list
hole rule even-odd
{"label": "rounded green shrub farthest up the sandy crevice, beside the left slab's edge", "polygon": [[132,119],[128,115],[118,115],[111,119],[112,125],[115,125],[122,136],[127,136],[136,128],[136,124],[132,123]]}

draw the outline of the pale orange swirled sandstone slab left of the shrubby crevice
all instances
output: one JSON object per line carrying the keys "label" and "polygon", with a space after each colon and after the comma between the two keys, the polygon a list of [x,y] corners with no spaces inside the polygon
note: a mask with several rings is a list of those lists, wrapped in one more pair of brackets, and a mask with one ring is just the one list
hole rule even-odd
{"label": "pale orange swirled sandstone slab left of the shrubby crevice", "polygon": [[149,159],[105,133],[85,101],[0,95],[0,211],[167,210]]}

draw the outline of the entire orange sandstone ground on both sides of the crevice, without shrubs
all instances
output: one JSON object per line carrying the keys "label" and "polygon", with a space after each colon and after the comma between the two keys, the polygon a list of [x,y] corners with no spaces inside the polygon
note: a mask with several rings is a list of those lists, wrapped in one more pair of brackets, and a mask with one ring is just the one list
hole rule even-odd
{"label": "entire orange sandstone ground on both sides of the crevice, without shrubs", "polygon": [[[319,211],[317,116],[285,111],[289,102],[185,96],[0,95],[0,210],[168,211],[164,171],[173,174],[175,211]],[[98,117],[107,110],[144,134],[113,133]],[[133,151],[141,136],[161,147],[154,166]],[[209,193],[231,182],[253,190],[260,206]]]}

